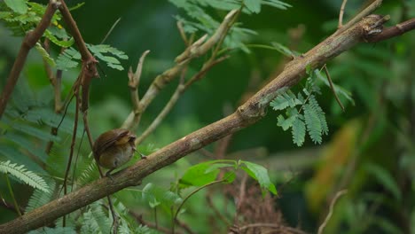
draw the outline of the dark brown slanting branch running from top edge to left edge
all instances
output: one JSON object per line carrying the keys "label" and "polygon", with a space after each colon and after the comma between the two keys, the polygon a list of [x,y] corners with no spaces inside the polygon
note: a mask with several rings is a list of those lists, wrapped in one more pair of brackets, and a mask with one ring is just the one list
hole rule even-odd
{"label": "dark brown slanting branch running from top edge to left edge", "polygon": [[49,25],[51,24],[51,18],[53,17],[53,14],[58,9],[58,7],[59,2],[57,2],[56,0],[51,0],[48,6],[46,7],[42,20],[39,22],[37,27],[35,27],[33,31],[29,31],[23,39],[23,42],[20,46],[20,51],[18,53],[16,60],[14,61],[12,71],[10,72],[9,77],[7,78],[7,82],[4,85],[4,89],[0,97],[0,119],[3,116],[5,107],[12,95],[14,86],[16,86],[16,83],[19,79],[21,69],[25,65],[28,52],[35,46],[37,41],[39,41],[46,28],[49,27]]}

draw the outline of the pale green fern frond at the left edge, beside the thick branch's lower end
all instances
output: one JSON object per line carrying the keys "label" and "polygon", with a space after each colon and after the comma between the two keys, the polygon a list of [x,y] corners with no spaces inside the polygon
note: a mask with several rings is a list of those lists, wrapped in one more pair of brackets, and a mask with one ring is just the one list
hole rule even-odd
{"label": "pale green fern frond at the left edge, beside the thick branch's lower end", "polygon": [[50,188],[43,178],[32,171],[28,171],[23,165],[18,166],[16,163],[11,163],[10,160],[0,161],[0,172],[10,174],[17,181],[26,183],[35,189],[50,192]]}

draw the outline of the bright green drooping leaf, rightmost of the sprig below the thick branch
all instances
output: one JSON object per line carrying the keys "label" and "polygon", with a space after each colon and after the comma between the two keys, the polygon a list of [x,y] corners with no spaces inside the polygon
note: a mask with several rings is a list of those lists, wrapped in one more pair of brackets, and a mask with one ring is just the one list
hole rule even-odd
{"label": "bright green drooping leaf, rightmost of the sprig below the thick branch", "polygon": [[249,176],[254,178],[254,180],[256,180],[260,184],[262,189],[262,196],[265,195],[266,190],[270,191],[272,194],[278,194],[274,183],[270,182],[270,176],[268,175],[268,170],[266,168],[263,168],[261,165],[249,161],[241,162],[247,166],[247,168],[241,168],[244,169]]}

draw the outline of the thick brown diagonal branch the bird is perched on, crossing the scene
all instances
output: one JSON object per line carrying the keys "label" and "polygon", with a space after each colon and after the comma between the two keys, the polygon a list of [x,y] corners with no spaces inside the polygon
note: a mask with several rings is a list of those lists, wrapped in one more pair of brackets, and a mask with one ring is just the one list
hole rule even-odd
{"label": "thick brown diagonal branch the bird is perched on, crossing the scene", "polygon": [[375,26],[377,21],[378,19],[374,17],[364,18],[355,26],[349,27],[342,33],[329,36],[303,56],[290,61],[281,74],[254,94],[252,98],[249,98],[245,104],[240,105],[235,113],[166,145],[159,151],[148,155],[146,160],[138,160],[131,167],[115,173],[112,178],[98,179],[78,191],[68,193],[66,196],[52,200],[18,219],[0,225],[0,232],[23,233],[41,227],[109,194],[140,184],[145,176],[154,171],[164,168],[224,136],[254,124],[265,115],[270,101],[278,96],[278,90],[287,89],[300,82],[301,77],[306,74],[306,67],[310,66],[311,69],[315,69],[323,66],[328,60],[347,51],[356,43],[364,42],[368,33],[364,28],[377,29],[381,27],[381,25]]}

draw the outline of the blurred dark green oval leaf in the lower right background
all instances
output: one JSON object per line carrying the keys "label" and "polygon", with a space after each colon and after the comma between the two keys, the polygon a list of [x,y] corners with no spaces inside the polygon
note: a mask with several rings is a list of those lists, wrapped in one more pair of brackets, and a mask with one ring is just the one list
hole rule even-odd
{"label": "blurred dark green oval leaf in the lower right background", "polygon": [[395,178],[388,170],[373,163],[365,164],[364,169],[367,173],[373,175],[388,191],[390,191],[394,195],[395,199],[398,201],[402,199],[402,193],[399,190],[399,185],[396,183]]}

